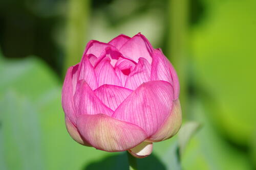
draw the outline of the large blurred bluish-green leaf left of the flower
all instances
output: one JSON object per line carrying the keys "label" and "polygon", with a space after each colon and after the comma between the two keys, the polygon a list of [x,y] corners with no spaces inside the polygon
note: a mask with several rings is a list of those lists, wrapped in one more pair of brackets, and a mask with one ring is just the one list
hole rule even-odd
{"label": "large blurred bluish-green leaf left of the flower", "polygon": [[0,169],[81,169],[110,153],[68,134],[61,85],[41,61],[0,61]]}

